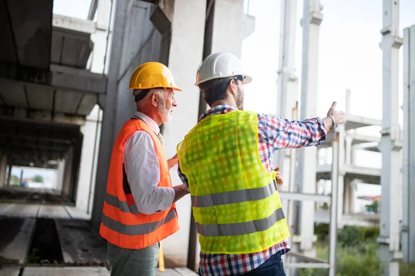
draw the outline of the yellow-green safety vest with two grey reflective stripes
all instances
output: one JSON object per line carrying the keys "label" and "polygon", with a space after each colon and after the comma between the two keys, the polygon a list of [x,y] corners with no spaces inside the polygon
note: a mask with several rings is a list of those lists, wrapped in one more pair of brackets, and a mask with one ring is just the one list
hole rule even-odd
{"label": "yellow-green safety vest with two grey reflective stripes", "polygon": [[256,113],[210,115],[177,151],[203,253],[256,253],[290,236],[275,172],[259,157]]}

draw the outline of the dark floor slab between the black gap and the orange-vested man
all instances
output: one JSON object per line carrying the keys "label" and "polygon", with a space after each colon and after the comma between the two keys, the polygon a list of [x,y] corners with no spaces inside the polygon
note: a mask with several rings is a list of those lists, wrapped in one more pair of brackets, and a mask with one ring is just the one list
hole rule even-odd
{"label": "dark floor slab between the black gap and the orange-vested man", "polygon": [[55,224],[66,264],[109,265],[107,243],[86,221],[55,219]]}

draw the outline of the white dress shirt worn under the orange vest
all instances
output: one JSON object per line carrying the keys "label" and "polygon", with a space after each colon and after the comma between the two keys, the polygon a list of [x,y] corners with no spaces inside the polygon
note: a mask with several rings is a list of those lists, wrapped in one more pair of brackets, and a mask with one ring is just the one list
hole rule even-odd
{"label": "white dress shirt worn under the orange vest", "polygon": [[[157,123],[144,113],[136,111],[134,117],[145,121],[156,135],[160,132]],[[123,160],[138,212],[150,215],[172,206],[173,188],[157,186],[160,165],[149,133],[137,130],[131,135],[125,144]]]}

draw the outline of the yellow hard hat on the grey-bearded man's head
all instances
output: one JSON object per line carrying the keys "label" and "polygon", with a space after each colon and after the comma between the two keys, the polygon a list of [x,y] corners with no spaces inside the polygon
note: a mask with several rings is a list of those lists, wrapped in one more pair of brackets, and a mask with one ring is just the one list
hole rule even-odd
{"label": "yellow hard hat on the grey-bearded man's head", "polygon": [[151,88],[172,88],[173,90],[181,91],[181,89],[176,87],[169,68],[159,62],[146,62],[138,66],[131,75],[128,89]]}

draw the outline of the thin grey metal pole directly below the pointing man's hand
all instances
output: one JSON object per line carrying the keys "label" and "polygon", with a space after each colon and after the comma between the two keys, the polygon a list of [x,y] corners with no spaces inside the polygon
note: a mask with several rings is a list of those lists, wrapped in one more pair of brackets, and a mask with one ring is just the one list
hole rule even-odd
{"label": "thin grey metal pole directly below the pointing man's hand", "polygon": [[330,204],[330,250],[329,250],[329,276],[335,276],[335,252],[337,248],[338,223],[338,179],[339,179],[339,133],[334,132],[333,161],[331,164],[331,204]]}

